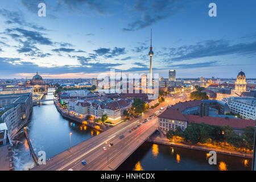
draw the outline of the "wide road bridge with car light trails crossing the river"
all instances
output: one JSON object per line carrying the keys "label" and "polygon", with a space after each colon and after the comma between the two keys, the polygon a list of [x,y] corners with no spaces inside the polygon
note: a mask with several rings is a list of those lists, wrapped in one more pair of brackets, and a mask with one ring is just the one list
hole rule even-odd
{"label": "wide road bridge with car light trails crossing the river", "polygon": [[[66,150],[48,159],[45,165],[36,166],[31,170],[115,170],[157,130],[157,118],[153,118],[130,133],[129,130],[137,126],[138,123],[142,123],[142,120],[140,118],[122,122],[95,137],[77,144],[71,151]],[[125,137],[119,139],[122,134]],[[114,145],[107,147],[110,142]],[[108,150],[104,151],[103,147],[108,148]],[[81,163],[82,160],[86,161],[86,166]]]}

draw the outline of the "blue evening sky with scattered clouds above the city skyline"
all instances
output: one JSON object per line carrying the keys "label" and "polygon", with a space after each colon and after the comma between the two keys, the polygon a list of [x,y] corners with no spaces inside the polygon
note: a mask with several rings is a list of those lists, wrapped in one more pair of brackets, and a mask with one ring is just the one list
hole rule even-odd
{"label": "blue evening sky with scattered clouds above the city skyline", "polygon": [[[46,16],[39,16],[39,3]],[[209,3],[217,16],[210,17]],[[0,78],[92,78],[122,70],[255,78],[256,1],[0,1]]]}

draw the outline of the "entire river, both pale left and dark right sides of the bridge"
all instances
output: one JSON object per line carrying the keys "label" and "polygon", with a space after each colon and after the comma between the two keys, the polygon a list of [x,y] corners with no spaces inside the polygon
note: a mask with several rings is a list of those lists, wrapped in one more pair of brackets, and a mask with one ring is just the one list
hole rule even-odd
{"label": "entire river, both pale left and dark right sides of the bridge", "polygon": [[[50,90],[49,90],[50,91]],[[48,93],[45,99],[53,98]],[[47,159],[76,144],[99,134],[99,131],[61,117],[53,101],[34,106],[28,135],[36,154],[45,151]],[[35,166],[24,137],[14,141],[15,170]],[[162,144],[143,143],[117,170],[250,170],[251,159],[217,154],[217,164],[209,165],[207,152]]]}

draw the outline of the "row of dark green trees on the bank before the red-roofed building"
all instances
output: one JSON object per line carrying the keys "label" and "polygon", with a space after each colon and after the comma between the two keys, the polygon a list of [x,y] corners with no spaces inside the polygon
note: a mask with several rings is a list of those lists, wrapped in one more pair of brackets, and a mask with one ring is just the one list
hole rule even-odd
{"label": "row of dark green trees on the bank before the red-roofed building", "polygon": [[185,141],[193,144],[226,142],[237,148],[253,150],[254,127],[246,127],[244,134],[240,136],[229,125],[213,126],[205,123],[191,123],[185,131],[178,127],[175,131],[167,132],[168,139],[172,139],[174,136],[182,137]]}

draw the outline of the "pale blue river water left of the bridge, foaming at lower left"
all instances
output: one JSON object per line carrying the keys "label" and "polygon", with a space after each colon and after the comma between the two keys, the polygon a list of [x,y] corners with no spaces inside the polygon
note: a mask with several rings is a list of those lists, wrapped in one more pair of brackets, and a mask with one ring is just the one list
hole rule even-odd
{"label": "pale blue river water left of the bridge, foaming at lower left", "polygon": [[[45,96],[45,99],[51,98],[53,98],[52,93]],[[30,120],[27,126],[32,146],[36,154],[38,151],[45,151],[47,159],[69,148],[69,133],[72,133],[72,146],[100,133],[91,127],[64,119],[53,101],[34,106]],[[14,143],[16,143],[14,144],[15,170],[28,170],[33,167],[35,164],[30,155],[27,140],[22,137]]]}

